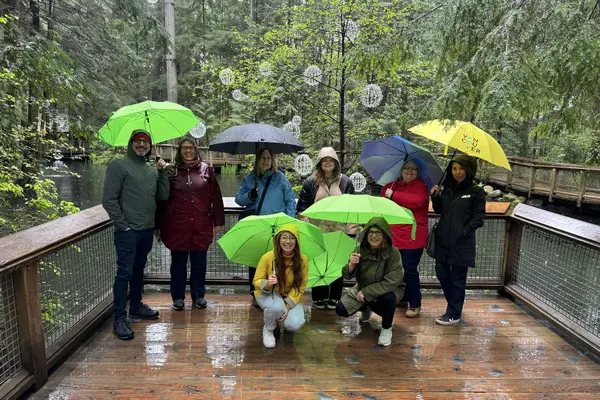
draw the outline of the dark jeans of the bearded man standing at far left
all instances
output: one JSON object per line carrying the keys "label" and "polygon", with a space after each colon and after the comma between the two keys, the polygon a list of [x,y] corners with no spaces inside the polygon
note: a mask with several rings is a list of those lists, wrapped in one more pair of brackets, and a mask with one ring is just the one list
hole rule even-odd
{"label": "dark jeans of the bearded man standing at far left", "polygon": [[129,307],[136,307],[142,302],[142,285],[144,268],[148,253],[152,249],[154,229],[143,231],[115,232],[115,248],[117,250],[117,275],[113,286],[115,296],[115,321],[127,317],[127,289],[129,288]]}

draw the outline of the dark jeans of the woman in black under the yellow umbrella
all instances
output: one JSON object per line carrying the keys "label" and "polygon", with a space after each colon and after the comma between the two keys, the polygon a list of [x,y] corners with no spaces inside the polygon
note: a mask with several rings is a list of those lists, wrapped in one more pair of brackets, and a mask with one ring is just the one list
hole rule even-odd
{"label": "dark jeans of the woman in black under the yellow umbrella", "polygon": [[465,303],[469,268],[455,267],[436,260],[435,272],[448,302],[446,315],[451,318],[460,318],[462,316],[462,307]]}

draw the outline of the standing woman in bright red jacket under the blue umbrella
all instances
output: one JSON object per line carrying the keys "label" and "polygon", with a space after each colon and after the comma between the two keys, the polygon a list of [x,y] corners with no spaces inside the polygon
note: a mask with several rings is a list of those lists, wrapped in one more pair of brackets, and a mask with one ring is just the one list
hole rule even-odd
{"label": "standing woman in bright red jacket under the blue umbrella", "polygon": [[398,205],[413,212],[417,221],[415,240],[411,239],[410,225],[391,225],[394,246],[400,250],[406,283],[406,300],[408,300],[407,318],[417,317],[421,313],[421,282],[419,280],[419,262],[423,249],[427,247],[429,234],[429,191],[427,185],[419,177],[419,167],[408,160],[402,166],[397,181],[383,187],[381,196],[393,200]]}

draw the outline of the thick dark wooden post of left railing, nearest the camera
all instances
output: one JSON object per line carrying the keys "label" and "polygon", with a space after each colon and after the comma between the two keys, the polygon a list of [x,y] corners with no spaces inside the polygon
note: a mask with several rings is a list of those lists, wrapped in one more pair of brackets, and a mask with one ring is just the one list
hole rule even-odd
{"label": "thick dark wooden post of left railing, nearest the camera", "polygon": [[48,363],[42,323],[40,281],[37,260],[13,273],[17,317],[19,320],[19,345],[23,368],[34,377],[35,390],[48,381]]}

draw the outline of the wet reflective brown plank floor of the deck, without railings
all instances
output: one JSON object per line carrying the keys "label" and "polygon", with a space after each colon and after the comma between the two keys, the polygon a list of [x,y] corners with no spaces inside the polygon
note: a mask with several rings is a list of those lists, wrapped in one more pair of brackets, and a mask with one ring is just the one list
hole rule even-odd
{"label": "wet reflective brown plank floor of the deck, without railings", "polygon": [[[298,332],[262,345],[262,312],[242,295],[207,296],[205,310],[170,309],[146,293],[160,319],[118,340],[105,321],[31,399],[569,399],[600,398],[600,366],[511,301],[468,298],[462,326],[434,317],[426,298],[409,320],[398,308],[390,347],[379,323],[308,310]],[[305,303],[310,303],[306,298]],[[311,315],[312,314],[312,315]]]}

